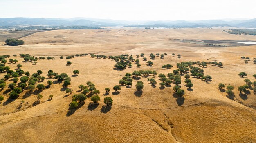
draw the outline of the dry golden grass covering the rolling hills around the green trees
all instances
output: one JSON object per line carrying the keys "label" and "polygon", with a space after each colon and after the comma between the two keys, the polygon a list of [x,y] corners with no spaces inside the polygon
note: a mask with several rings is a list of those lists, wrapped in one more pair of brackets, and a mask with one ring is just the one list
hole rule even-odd
{"label": "dry golden grass covering the rolling hills around the green trees", "polygon": [[[222,29],[166,29],[166,30],[55,30],[34,33],[22,38],[26,45],[0,46],[1,55],[29,53],[34,56],[54,56],[56,60],[38,60],[38,64],[22,62],[24,71],[31,74],[49,69],[57,73],[67,73],[71,78],[69,88],[74,89],[71,95],[65,93],[62,84],[55,83],[40,92],[43,98],[40,104],[33,106],[38,91],[25,90],[15,101],[8,99],[7,88],[0,91],[5,99],[0,104],[0,142],[256,142],[256,95],[239,96],[238,86],[245,84],[244,79],[255,81],[255,64],[252,60],[245,64],[241,56],[256,57],[256,46],[240,47],[207,47],[198,44],[182,43],[174,39],[187,40],[256,40],[255,36],[229,35]],[[101,53],[103,55],[120,55],[144,53],[167,53],[164,59],[156,57],[153,66],[147,66],[140,57],[141,67],[133,64],[132,68],[123,71],[114,70],[115,62],[110,59],[75,57],[72,64],[66,66],[67,59],[61,55],[81,53]],[[171,53],[181,54],[179,59]],[[183,98],[173,96],[173,86],[159,88],[159,79],[154,88],[144,82],[142,94],[137,94],[133,81],[131,88],[121,87],[118,95],[103,95],[104,88],[118,84],[126,73],[134,70],[156,70],[157,73],[172,73],[177,62],[186,61],[221,61],[224,66],[208,65],[205,75],[211,75],[213,81],[208,84],[200,79],[191,78],[194,87],[188,91],[184,76],[181,88],[185,90]],[[7,64],[16,69],[17,64]],[[171,64],[171,69],[161,69],[163,64]],[[73,70],[79,70],[79,76],[72,77]],[[245,71],[247,78],[240,78],[238,73]],[[0,73],[2,78],[6,73]],[[46,79],[44,84],[47,83]],[[54,79],[49,79],[53,80]],[[92,81],[100,90],[99,105],[89,106],[86,99],[83,106],[70,112],[68,105],[72,95],[79,92],[78,86]],[[7,81],[7,84],[11,83]],[[233,98],[227,98],[225,92],[218,90],[218,84],[234,86]],[[77,92],[78,91],[78,92]],[[52,101],[46,101],[49,95]],[[111,110],[103,110],[103,98],[112,97],[114,104]],[[20,107],[20,102],[25,103]],[[28,103],[27,103],[28,102]],[[241,104],[241,103],[242,104]],[[249,108],[247,106],[251,106]]]}

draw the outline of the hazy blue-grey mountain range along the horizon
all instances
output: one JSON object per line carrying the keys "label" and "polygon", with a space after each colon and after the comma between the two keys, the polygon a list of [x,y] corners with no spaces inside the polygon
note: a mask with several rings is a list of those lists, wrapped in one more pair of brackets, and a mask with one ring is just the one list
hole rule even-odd
{"label": "hazy blue-grey mountain range along the horizon", "polygon": [[256,18],[249,20],[111,20],[97,18],[0,18],[0,26],[99,26],[99,27],[244,27],[256,28]]}

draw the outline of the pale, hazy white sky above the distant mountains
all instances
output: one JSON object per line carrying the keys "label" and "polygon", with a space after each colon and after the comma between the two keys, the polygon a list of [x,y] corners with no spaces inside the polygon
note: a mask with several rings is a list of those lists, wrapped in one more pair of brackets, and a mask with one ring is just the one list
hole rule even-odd
{"label": "pale, hazy white sky above the distant mountains", "polygon": [[115,20],[256,18],[256,0],[0,0],[0,17]]}

